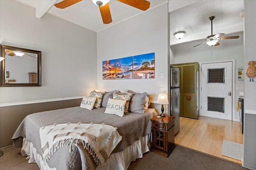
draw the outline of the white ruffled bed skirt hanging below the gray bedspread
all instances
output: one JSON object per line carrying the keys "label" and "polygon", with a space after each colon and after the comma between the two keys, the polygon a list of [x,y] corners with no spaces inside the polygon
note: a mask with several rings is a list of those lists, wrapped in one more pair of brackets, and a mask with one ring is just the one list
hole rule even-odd
{"label": "white ruffled bed skirt hanging below the gray bedspread", "polygon": [[[132,161],[142,158],[142,154],[150,150],[151,141],[151,134],[141,137],[122,152],[111,154],[105,164],[102,167],[98,166],[96,170],[126,170]],[[50,168],[44,164],[40,154],[36,153],[36,148],[26,139],[23,140],[21,154],[27,156],[28,163],[37,163],[40,170],[56,170],[56,168]]]}

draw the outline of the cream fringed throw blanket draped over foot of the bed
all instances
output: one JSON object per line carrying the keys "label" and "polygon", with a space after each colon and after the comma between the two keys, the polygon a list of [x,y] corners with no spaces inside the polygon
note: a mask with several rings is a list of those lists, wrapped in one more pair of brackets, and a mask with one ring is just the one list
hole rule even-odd
{"label": "cream fringed throw blanket draped over foot of the bed", "polygon": [[103,124],[65,123],[40,128],[40,140],[44,162],[48,162],[60,147],[68,141],[70,152],[72,143],[81,142],[92,155],[96,164],[103,164],[112,150],[122,140],[117,128]]}

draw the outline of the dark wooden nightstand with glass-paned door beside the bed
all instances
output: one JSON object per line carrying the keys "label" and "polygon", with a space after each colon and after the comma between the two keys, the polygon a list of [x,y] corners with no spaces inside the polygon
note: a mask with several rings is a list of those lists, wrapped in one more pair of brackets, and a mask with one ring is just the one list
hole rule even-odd
{"label": "dark wooden nightstand with glass-paned door beside the bed", "polygon": [[152,148],[155,152],[168,158],[174,144],[174,119],[175,117],[166,115],[162,118],[153,117],[152,121]]}

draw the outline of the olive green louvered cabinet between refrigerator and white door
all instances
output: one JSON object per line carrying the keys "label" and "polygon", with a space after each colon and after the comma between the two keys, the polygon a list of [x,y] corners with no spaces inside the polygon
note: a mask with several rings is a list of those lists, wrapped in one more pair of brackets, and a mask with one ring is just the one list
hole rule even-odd
{"label": "olive green louvered cabinet between refrigerator and white door", "polygon": [[180,69],[180,116],[199,116],[199,64],[171,64]]}

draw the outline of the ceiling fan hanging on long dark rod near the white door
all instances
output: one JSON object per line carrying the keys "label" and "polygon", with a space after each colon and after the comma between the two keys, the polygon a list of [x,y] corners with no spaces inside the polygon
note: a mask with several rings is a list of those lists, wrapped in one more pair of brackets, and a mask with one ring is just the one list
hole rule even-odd
{"label": "ceiling fan hanging on long dark rod near the white door", "polygon": [[[214,16],[211,16],[209,19],[210,21],[212,22],[212,20],[214,19],[215,17]],[[218,33],[216,35],[209,35],[208,37],[206,37],[206,39],[199,39],[199,40],[195,40],[195,41],[202,41],[204,40],[204,42],[198,44],[198,45],[201,45],[203,43],[206,43],[207,45],[209,46],[217,46],[217,45],[220,45],[220,43],[218,42],[218,40],[221,40],[221,39],[236,39],[236,38],[239,38],[238,35],[236,36],[230,36],[230,37],[222,37],[224,35],[224,33]],[[198,45],[194,46],[194,47],[197,47]]]}

